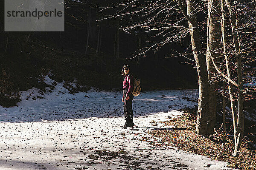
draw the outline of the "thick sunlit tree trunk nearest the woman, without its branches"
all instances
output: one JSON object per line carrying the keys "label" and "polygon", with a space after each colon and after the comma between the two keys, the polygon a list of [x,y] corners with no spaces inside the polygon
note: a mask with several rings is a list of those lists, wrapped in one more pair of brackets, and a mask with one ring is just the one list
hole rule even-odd
{"label": "thick sunlit tree trunk nearest the woman, without its branches", "polygon": [[[187,15],[189,15],[193,10],[193,4],[191,0],[186,0],[187,3]],[[195,3],[195,1],[193,1]],[[198,116],[196,122],[196,132],[202,136],[207,135],[207,112],[208,112],[208,102],[209,102],[209,83],[206,60],[201,47],[201,40],[199,37],[198,20],[195,14],[190,15],[188,20],[192,50],[195,58],[195,64],[198,72],[198,86],[199,86],[199,96],[198,96]]]}

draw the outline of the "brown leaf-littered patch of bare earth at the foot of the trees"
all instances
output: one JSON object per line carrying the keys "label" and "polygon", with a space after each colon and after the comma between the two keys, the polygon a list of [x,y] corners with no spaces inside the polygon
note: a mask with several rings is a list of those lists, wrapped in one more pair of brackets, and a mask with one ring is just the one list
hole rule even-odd
{"label": "brown leaf-littered patch of bare earth at the foot of the trees", "polygon": [[[205,138],[195,133],[194,114],[183,115],[166,121],[166,126],[175,126],[172,130],[149,131],[153,137],[160,137],[161,142],[152,142],[153,145],[177,147],[190,153],[207,156],[213,160],[228,162],[228,167],[241,170],[256,170],[256,152],[241,148],[238,157],[233,157],[233,141],[228,139],[224,133],[215,131],[215,134]],[[244,144],[245,146],[245,144]]]}

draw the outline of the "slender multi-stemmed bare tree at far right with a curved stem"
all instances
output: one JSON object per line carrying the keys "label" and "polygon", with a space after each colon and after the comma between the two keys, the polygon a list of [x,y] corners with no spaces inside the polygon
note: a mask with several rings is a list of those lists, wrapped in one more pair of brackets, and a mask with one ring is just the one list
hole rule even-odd
{"label": "slender multi-stemmed bare tree at far right with a curved stem", "polygon": [[[212,59],[213,65],[218,72],[224,79],[226,79],[229,82],[229,95],[230,95],[230,105],[231,105],[231,110],[232,110],[232,115],[233,115],[233,129],[234,129],[234,140],[235,140],[235,149],[233,156],[237,156],[241,147],[241,142],[244,136],[244,108],[243,108],[243,102],[244,102],[244,86],[243,86],[243,74],[242,74],[242,53],[241,53],[241,45],[240,45],[240,39],[239,39],[239,33],[238,33],[238,20],[239,16],[237,14],[237,8],[236,8],[236,2],[234,1],[234,4],[231,5],[229,0],[225,0],[225,4],[228,8],[229,15],[230,15],[230,27],[232,28],[232,40],[233,40],[233,45],[230,45],[230,50],[232,50],[232,47],[235,50],[235,57],[236,57],[236,74],[237,78],[235,80],[232,80],[230,76],[230,62],[228,59],[228,55],[232,55],[232,53],[227,53],[226,49],[226,25],[225,25],[225,17],[224,17],[224,0],[221,1],[221,8],[222,8],[222,22],[221,22],[221,32],[222,32],[222,41],[223,41],[223,51],[224,51],[224,58],[225,58],[225,64],[227,68],[227,76],[220,71],[220,69],[217,67],[215,64],[213,57],[212,57],[212,50],[209,45],[209,27],[207,27],[207,47],[209,48],[209,54]],[[246,6],[247,7],[247,6]],[[211,15],[212,11],[212,6],[209,7],[209,15]],[[208,17],[208,22],[207,25],[209,26],[209,20],[211,18]],[[244,23],[244,21],[241,21]],[[250,24],[249,24],[250,25]],[[248,27],[248,23],[240,27],[241,30],[246,30],[246,27]],[[248,32],[249,33],[249,32]],[[248,38],[244,38],[247,40]],[[250,62],[250,59],[248,60]],[[234,72],[233,72],[234,73]],[[233,99],[233,91],[231,87],[231,83],[235,85],[236,87],[236,100],[237,100],[237,109],[235,111],[235,104],[234,104],[234,99]],[[225,87],[223,87],[225,89]]]}

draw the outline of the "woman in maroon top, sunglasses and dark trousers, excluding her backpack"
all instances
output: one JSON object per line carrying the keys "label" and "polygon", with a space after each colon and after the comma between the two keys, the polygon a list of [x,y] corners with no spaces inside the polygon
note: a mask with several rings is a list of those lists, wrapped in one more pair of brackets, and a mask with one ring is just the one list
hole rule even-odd
{"label": "woman in maroon top, sunglasses and dark trousers, excluding her backpack", "polygon": [[123,81],[123,96],[122,102],[124,102],[124,113],[125,113],[125,125],[122,128],[133,127],[133,111],[132,111],[132,99],[134,98],[133,91],[134,78],[130,74],[129,65],[124,65],[122,68],[122,75],[125,76]]}

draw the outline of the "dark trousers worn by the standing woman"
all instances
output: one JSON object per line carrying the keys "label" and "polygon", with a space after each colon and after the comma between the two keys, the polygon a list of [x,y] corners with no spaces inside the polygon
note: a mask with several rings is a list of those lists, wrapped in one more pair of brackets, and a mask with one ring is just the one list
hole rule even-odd
{"label": "dark trousers worn by the standing woman", "polygon": [[125,100],[125,96],[128,90],[123,90],[124,97],[124,113],[125,113],[125,125],[133,125],[133,112],[132,112],[132,99],[134,96],[130,94],[129,99]]}

